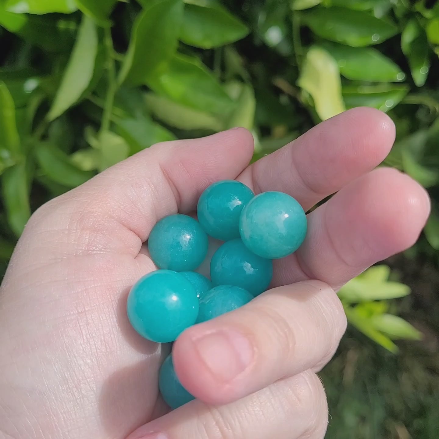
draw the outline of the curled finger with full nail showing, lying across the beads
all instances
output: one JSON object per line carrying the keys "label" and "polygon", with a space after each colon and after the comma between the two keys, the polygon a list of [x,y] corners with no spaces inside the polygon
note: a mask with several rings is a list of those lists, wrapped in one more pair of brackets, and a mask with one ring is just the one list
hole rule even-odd
{"label": "curled finger with full nail showing, lying across the beads", "polygon": [[335,292],[319,281],[300,282],[188,328],[173,345],[173,363],[192,395],[224,404],[320,368],[345,329]]}

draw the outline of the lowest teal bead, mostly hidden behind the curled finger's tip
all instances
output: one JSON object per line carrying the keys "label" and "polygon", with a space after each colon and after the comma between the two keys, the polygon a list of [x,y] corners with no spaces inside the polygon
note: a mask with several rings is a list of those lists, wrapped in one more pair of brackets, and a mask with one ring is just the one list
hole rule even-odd
{"label": "lowest teal bead, mostly hidden behind the curled finger's tip", "polygon": [[162,367],[160,367],[158,373],[158,388],[166,404],[173,410],[195,399],[195,397],[181,385],[175,373],[171,355],[166,357]]}

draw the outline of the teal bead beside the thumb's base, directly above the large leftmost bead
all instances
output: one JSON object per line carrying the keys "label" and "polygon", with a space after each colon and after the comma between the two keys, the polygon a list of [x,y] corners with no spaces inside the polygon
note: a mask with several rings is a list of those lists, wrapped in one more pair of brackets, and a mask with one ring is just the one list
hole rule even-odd
{"label": "teal bead beside the thumb's base, directly above the large leftmost bead", "polygon": [[187,215],[170,215],[158,221],[148,238],[151,259],[159,267],[192,271],[201,265],[209,241],[198,221]]}

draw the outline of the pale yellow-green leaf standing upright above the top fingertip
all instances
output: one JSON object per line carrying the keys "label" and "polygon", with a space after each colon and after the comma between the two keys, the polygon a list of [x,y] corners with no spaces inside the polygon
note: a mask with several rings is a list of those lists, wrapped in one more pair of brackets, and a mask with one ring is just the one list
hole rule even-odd
{"label": "pale yellow-green leaf standing upright above the top fingertip", "polygon": [[320,119],[329,119],[345,110],[338,65],[326,50],[316,46],[308,50],[298,85],[313,98]]}

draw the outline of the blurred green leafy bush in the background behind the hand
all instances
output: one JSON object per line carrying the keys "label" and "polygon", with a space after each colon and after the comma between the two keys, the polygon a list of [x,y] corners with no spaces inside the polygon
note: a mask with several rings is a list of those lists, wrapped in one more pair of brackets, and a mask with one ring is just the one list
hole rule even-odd
{"label": "blurred green leafy bush in the background behind the hand", "polygon": [[[3,271],[32,211],[152,144],[245,126],[257,160],[356,106],[395,122],[384,164],[433,200],[406,255],[439,263],[438,1],[0,0],[0,39]],[[396,352],[421,338],[396,316],[409,293],[381,265],[340,297],[352,328]]]}

